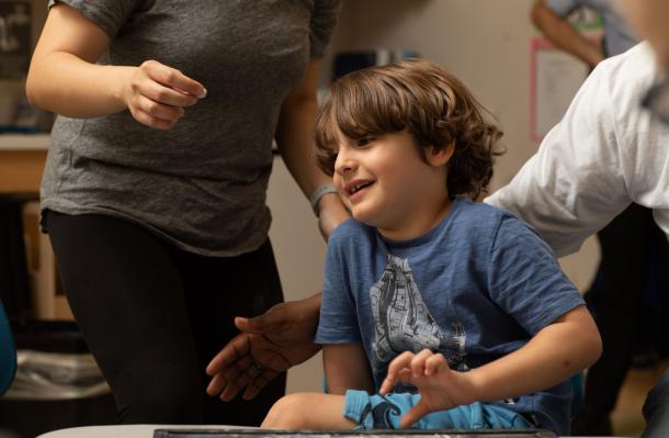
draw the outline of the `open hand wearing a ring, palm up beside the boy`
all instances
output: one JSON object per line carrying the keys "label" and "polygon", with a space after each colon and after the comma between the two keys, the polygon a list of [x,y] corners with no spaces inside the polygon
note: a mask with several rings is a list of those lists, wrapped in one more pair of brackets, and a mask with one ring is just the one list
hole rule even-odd
{"label": "open hand wearing a ring, palm up beside the boy", "polygon": [[242,330],[212,359],[206,373],[213,379],[207,394],[227,402],[246,388],[251,400],[276,375],[309,359],[320,349],[314,344],[320,294],[276,304],[254,318],[235,318]]}

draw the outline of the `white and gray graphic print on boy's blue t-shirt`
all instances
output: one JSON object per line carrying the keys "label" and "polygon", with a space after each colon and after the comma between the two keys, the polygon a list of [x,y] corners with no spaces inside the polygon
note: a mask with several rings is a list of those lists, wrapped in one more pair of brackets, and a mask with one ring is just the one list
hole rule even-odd
{"label": "white and gray graphic print on boy's blue t-shirt", "polygon": [[408,259],[387,255],[381,279],[370,290],[374,314],[372,367],[375,374],[385,373],[390,360],[404,351],[424,348],[439,351],[453,370],[466,371],[465,329],[453,323],[446,336],[426,306]]}

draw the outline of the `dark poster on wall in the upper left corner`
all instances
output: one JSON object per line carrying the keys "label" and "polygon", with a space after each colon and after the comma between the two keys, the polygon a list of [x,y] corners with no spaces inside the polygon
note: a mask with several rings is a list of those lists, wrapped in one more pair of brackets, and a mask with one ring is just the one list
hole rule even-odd
{"label": "dark poster on wall in the upper left corner", "polygon": [[0,2],[0,79],[23,78],[31,58],[31,4]]}

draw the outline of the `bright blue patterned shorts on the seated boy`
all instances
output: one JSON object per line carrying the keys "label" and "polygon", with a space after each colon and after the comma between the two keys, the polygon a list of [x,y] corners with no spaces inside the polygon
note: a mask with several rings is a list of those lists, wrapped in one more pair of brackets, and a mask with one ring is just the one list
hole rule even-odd
{"label": "bright blue patterned shorts on the seated boy", "polygon": [[[365,391],[347,391],[344,417],[359,429],[399,429],[399,419],[420,400],[420,394],[400,393],[386,396]],[[416,429],[528,429],[536,427],[521,414],[488,403],[473,403],[447,411],[433,412],[419,419]]]}

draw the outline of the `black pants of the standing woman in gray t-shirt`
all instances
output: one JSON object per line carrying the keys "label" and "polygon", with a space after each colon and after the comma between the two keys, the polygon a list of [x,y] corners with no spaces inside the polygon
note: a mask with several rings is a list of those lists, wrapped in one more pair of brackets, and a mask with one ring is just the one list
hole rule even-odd
{"label": "black pants of the standing woman in gray t-shirt", "polygon": [[208,361],[252,316],[283,300],[269,240],[231,258],[180,250],[103,215],[46,213],[65,291],[122,424],[259,425],[285,375],[251,402],[205,393]]}

